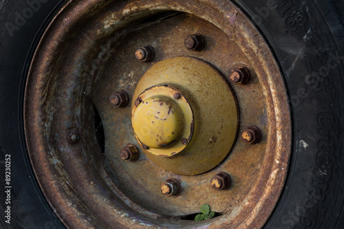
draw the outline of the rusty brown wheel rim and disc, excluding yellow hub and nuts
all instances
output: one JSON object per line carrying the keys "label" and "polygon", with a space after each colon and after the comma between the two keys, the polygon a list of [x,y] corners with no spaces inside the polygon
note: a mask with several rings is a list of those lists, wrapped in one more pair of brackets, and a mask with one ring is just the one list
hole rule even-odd
{"label": "rusty brown wheel rim and disc, excluding yellow hub and nuts", "polygon": [[[184,14],[161,14],[171,10]],[[156,18],[158,14],[171,18],[160,20],[164,28],[179,26],[181,32],[175,30],[169,33],[173,39],[165,40],[168,36],[151,39],[158,32],[149,26],[141,28],[146,34],[132,32],[140,29],[135,22]],[[200,31],[205,34],[204,50],[187,50],[184,37]],[[211,36],[211,32],[218,36]],[[135,43],[135,39],[142,41]],[[153,61],[137,63],[135,57],[127,61],[129,57],[125,56],[133,56],[140,45],[120,45],[125,41],[155,46]],[[222,153],[224,158],[195,173],[200,175],[176,175],[148,160],[149,154],[140,149],[133,131],[121,130],[131,128],[130,113],[139,95],[134,94],[138,80],[152,66],[174,56],[200,58],[226,76],[230,69],[241,65],[250,70],[247,85],[230,85],[239,107],[239,133],[244,133],[248,125],[258,126],[262,132],[259,144],[245,144],[238,138]],[[235,57],[224,61],[216,56]],[[128,66],[131,71],[124,74]],[[123,71],[120,78],[111,74],[116,71]],[[30,67],[25,92],[25,133],[30,158],[45,196],[72,228],[260,228],[277,203],[290,155],[290,114],[284,88],[268,46],[231,3],[180,1],[175,5],[169,1],[147,1],[142,5],[76,1],[67,4],[52,21]],[[129,94],[131,107],[120,109],[109,104],[110,94],[121,89]],[[257,100],[252,100],[252,96]],[[104,125],[104,155],[94,131],[94,107]],[[197,111],[193,102],[191,107]],[[211,135],[211,143],[206,144],[216,143],[213,137],[219,138]],[[138,146],[138,160],[120,159],[119,151],[127,143]],[[212,177],[221,171],[230,175],[232,185],[227,190],[213,190]],[[168,179],[180,184],[177,195],[166,197],[160,193],[161,183]],[[202,204],[210,204],[219,217],[201,222],[186,220],[200,212]]]}

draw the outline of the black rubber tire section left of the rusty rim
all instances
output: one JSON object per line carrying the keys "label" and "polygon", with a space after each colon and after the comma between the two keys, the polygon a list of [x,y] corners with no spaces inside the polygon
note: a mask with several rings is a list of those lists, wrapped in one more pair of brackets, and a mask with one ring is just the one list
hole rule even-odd
{"label": "black rubber tire section left of the rusty rim", "polygon": [[[43,29],[62,4],[47,0],[0,3],[0,228],[64,228],[36,182],[23,133],[28,64]],[[9,206],[4,193],[8,189],[6,155],[10,155],[11,163],[10,224],[4,218]]]}

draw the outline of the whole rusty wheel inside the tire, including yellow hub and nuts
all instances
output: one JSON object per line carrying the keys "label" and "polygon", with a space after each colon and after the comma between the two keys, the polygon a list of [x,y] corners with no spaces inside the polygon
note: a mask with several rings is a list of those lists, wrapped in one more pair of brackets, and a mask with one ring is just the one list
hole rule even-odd
{"label": "whole rusty wheel inside the tire, including yellow hub and nuts", "polygon": [[[69,1],[36,49],[24,110],[67,228],[261,228],[286,179],[283,78],[230,1]],[[217,217],[194,221],[203,204]]]}

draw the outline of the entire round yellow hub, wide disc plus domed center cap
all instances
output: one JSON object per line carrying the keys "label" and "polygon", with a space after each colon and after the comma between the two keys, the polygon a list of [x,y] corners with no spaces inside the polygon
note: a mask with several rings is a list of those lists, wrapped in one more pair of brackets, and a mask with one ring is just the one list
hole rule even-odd
{"label": "entire round yellow hub, wide disc plus domed center cap", "polygon": [[226,77],[189,56],[155,63],[140,78],[131,104],[144,153],[180,175],[205,173],[226,158],[237,138],[238,116]]}

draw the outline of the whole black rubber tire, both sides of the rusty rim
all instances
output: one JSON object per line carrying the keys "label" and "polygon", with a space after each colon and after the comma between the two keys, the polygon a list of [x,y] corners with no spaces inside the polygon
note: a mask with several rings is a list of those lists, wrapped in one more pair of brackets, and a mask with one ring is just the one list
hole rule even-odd
{"label": "whole black rubber tire, both sides of the rusty rim", "polygon": [[[64,228],[39,190],[28,160],[22,108],[32,54],[63,3],[0,3],[1,228]],[[292,108],[290,172],[265,228],[344,228],[344,2],[236,3],[266,36],[285,77]],[[10,224],[4,218],[9,206],[4,193],[8,158]]]}

